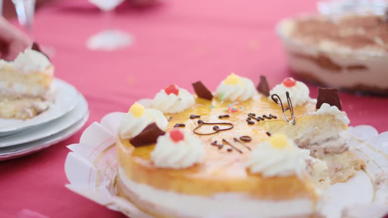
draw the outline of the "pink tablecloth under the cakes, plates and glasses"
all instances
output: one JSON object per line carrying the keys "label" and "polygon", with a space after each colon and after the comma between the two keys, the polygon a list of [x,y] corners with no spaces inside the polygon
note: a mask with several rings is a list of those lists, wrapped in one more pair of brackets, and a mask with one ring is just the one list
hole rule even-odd
{"label": "pink tablecloth under the cakes, plates and glasses", "polygon": [[[289,75],[275,24],[284,17],[315,11],[315,1],[163,1],[154,8],[121,6],[113,18],[135,36],[132,46],[91,51],[86,40],[102,29],[101,14],[86,1],[63,0],[40,10],[35,35],[56,48],[56,76],[75,85],[89,103],[88,126],[110,112],[126,112],[137,99],[153,97],[175,82],[192,91],[202,80],[213,90],[231,72],[259,75],[270,84]],[[316,87],[311,96],[316,97]],[[386,131],[387,98],[341,93],[351,125]],[[122,217],[65,188],[64,161],[81,132],[41,152],[0,162],[0,217],[24,208],[50,217]]]}

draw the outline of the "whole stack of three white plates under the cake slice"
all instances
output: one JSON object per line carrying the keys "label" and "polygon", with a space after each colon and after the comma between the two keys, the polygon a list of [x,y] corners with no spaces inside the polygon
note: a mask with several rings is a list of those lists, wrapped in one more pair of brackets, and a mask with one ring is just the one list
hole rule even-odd
{"label": "whole stack of three white plates under the cake slice", "polygon": [[53,85],[58,93],[49,110],[29,120],[0,118],[0,160],[27,155],[63,141],[86,123],[89,111],[82,94],[59,79]]}

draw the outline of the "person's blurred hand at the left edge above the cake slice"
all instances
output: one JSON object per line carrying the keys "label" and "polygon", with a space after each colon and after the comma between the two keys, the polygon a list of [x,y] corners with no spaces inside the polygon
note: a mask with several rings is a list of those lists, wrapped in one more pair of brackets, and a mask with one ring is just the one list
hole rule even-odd
{"label": "person's blurred hand at the left edge above the cake slice", "polygon": [[0,17],[0,58],[14,60],[20,52],[32,44],[26,34]]}

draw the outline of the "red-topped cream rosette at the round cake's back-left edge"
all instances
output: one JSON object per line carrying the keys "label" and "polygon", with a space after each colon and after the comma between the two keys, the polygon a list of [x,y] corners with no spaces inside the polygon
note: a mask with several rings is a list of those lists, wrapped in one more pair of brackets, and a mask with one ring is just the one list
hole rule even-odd
{"label": "red-topped cream rosette at the round cake's back-left edge", "polygon": [[195,104],[194,97],[186,89],[172,84],[156,94],[151,105],[163,113],[180,113]]}

